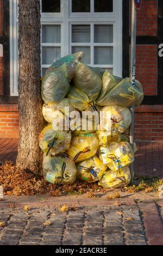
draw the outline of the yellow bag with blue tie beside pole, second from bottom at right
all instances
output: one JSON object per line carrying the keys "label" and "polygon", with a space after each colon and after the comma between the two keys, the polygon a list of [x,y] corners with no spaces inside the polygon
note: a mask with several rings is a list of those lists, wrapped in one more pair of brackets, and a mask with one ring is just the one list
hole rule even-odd
{"label": "yellow bag with blue tie beside pole, second from bottom at right", "polygon": [[108,148],[100,148],[100,159],[111,170],[120,171],[134,161],[134,152],[128,142],[112,142]]}

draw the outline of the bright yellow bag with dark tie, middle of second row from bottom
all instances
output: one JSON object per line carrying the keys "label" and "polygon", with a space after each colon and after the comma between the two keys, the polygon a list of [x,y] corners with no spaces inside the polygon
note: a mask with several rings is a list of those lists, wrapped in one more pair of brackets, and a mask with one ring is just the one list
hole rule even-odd
{"label": "bright yellow bag with dark tie, middle of second row from bottom", "polygon": [[67,152],[75,162],[80,162],[94,156],[98,146],[99,140],[95,133],[87,133],[75,136]]}

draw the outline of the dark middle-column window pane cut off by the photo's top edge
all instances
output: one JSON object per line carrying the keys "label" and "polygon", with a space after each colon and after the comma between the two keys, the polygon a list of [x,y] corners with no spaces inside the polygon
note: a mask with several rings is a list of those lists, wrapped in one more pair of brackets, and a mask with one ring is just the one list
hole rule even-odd
{"label": "dark middle-column window pane cut off by the photo's top edge", "polygon": [[72,13],[90,13],[90,0],[72,0]]}

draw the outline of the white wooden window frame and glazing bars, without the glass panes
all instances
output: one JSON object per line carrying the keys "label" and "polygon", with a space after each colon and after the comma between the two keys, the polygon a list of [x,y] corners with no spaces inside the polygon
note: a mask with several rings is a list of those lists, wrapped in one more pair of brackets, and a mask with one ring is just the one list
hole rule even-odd
{"label": "white wooden window frame and glazing bars, without the glass panes", "polygon": [[[70,4],[67,4],[67,1]],[[18,75],[18,0],[10,0],[10,95],[17,96],[17,75]],[[103,68],[113,68],[113,74],[122,76],[122,0],[113,0],[113,12],[111,13],[93,13],[94,0],[91,0],[90,13],[72,13],[72,0],[61,0],[60,13],[41,13],[41,25],[61,25],[61,44],[47,44],[41,42],[42,46],[60,46],[61,57],[71,53],[71,46],[77,43],[71,43],[71,26],[91,24],[113,25],[113,44],[94,43],[94,46],[113,46],[113,65],[93,65]],[[42,10],[42,7],[41,7]],[[93,35],[93,32],[91,33]],[[92,41],[92,38],[91,38]],[[79,45],[79,44],[78,44]],[[81,43],[86,46],[86,43]],[[91,43],[90,43],[91,45]],[[93,46],[91,45],[91,56],[93,56]],[[42,63],[42,57],[41,57]],[[48,68],[49,65],[42,65],[41,68]]]}

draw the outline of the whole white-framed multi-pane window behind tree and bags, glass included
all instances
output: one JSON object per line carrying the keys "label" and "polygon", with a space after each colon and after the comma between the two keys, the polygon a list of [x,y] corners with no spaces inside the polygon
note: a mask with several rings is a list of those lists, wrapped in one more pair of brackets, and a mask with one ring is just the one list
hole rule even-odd
{"label": "whole white-framed multi-pane window behind tree and bags, glass included", "polygon": [[[17,95],[17,1],[10,0],[11,95]],[[84,51],[83,62],[122,76],[122,0],[40,0],[42,76],[58,58]]]}

